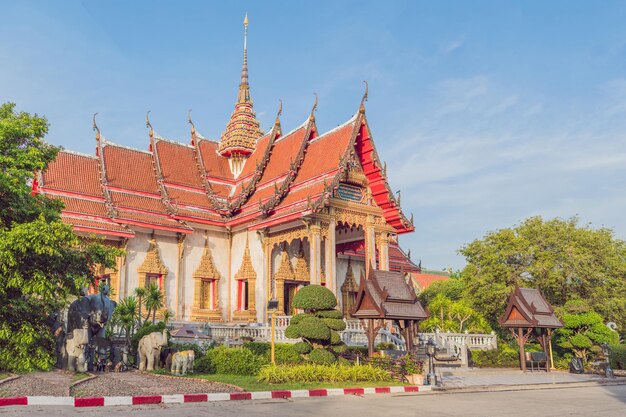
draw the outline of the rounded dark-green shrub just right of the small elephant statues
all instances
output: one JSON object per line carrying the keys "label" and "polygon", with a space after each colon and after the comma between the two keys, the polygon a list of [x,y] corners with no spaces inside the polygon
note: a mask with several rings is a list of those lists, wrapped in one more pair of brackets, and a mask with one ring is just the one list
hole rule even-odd
{"label": "rounded dark-green shrub just right of the small elephant statues", "polygon": [[207,352],[206,357],[218,374],[256,375],[267,359],[247,348],[219,346]]}

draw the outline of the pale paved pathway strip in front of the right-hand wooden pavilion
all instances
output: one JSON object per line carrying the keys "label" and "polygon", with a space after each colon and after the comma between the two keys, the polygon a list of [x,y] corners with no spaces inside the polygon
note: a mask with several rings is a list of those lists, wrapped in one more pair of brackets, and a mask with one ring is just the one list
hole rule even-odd
{"label": "pale paved pathway strip in front of the right-hand wooden pavilion", "polygon": [[605,378],[593,374],[577,375],[563,371],[522,372],[514,369],[440,369],[437,370],[437,377],[443,383],[443,388],[606,381]]}

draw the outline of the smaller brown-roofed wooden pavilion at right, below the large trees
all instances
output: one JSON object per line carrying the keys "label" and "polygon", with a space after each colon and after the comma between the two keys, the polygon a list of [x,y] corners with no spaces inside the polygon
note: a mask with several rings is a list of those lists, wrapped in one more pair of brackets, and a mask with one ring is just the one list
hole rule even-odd
{"label": "smaller brown-roofed wooden pavilion at right, below the large trees", "polygon": [[535,288],[515,287],[509,296],[504,315],[498,320],[500,326],[509,329],[520,350],[520,368],[526,371],[524,345],[535,336],[546,358],[546,371],[552,367],[552,355],[548,353],[552,330],[563,327],[554,315],[552,306],[543,293]]}

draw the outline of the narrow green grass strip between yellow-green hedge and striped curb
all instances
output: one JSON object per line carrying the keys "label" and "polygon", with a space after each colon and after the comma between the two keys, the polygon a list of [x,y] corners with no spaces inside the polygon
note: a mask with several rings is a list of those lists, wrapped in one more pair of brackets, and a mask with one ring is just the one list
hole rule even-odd
{"label": "narrow green grass strip between yellow-green hedge and striped curb", "polygon": [[390,387],[404,385],[398,381],[390,382],[309,382],[309,383],[287,383],[287,384],[266,384],[259,382],[255,376],[244,375],[220,375],[220,374],[197,374],[193,378],[202,378],[208,381],[223,382],[241,387],[245,391],[276,391],[276,390],[296,390],[314,388],[352,388],[352,387]]}

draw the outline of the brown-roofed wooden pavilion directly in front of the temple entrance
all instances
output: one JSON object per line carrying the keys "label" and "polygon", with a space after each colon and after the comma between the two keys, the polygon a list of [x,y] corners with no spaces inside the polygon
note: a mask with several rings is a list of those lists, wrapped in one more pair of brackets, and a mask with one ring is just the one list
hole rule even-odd
{"label": "brown-roofed wooden pavilion directly in front of the temple entrance", "polygon": [[369,356],[374,353],[374,340],[385,320],[399,324],[407,351],[410,351],[419,322],[428,317],[403,272],[373,268],[359,284],[351,315],[358,318],[365,329]]}

